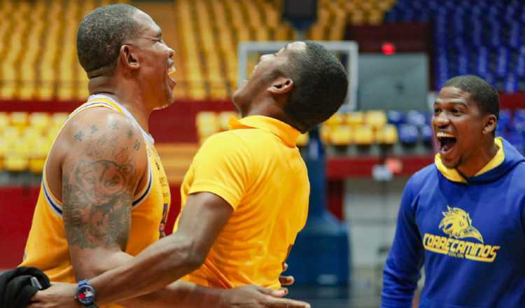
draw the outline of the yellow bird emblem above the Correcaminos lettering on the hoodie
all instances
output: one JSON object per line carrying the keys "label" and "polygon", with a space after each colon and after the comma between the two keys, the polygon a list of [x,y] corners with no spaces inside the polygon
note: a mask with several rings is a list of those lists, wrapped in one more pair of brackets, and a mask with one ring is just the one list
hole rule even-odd
{"label": "yellow bird emblem above the Correcaminos lettering on the hoodie", "polygon": [[458,207],[449,207],[449,211],[441,212],[444,218],[441,220],[439,228],[442,228],[444,234],[456,239],[473,237],[483,243],[483,237],[479,231],[472,225],[472,219],[467,212]]}

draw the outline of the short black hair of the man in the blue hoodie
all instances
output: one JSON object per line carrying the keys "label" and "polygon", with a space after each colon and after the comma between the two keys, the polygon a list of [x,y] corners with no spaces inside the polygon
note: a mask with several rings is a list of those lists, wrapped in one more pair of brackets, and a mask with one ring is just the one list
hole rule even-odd
{"label": "short black hair of the man in the blue hoodie", "polygon": [[500,116],[500,97],[489,83],[474,75],[456,76],[444,83],[443,87],[457,87],[470,93],[470,100],[476,102],[483,114]]}

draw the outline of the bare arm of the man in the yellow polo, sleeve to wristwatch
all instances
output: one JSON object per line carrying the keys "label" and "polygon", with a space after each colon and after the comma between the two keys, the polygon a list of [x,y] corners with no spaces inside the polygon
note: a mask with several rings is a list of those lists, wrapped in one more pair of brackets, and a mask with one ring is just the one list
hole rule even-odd
{"label": "bare arm of the man in the yellow polo, sleeve to wristwatch", "polygon": [[212,193],[190,195],[177,232],[148,246],[131,262],[90,280],[97,304],[150,293],[198,269],[232,211],[228,202]]}

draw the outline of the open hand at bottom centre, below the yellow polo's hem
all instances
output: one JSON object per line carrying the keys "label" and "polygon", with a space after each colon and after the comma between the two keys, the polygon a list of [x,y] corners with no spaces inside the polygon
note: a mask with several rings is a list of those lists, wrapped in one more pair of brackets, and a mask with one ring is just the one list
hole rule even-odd
{"label": "open hand at bottom centre, below the yellow polo's hem", "polygon": [[[272,290],[260,286],[239,286],[224,290],[221,308],[310,308],[307,302],[279,298],[285,290]],[[32,307],[31,307],[32,308]]]}

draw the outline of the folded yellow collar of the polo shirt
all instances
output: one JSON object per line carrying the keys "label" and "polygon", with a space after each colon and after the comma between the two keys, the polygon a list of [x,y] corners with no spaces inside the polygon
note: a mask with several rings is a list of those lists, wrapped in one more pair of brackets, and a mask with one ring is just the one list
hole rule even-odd
{"label": "folded yellow collar of the polo shirt", "polygon": [[287,146],[295,146],[297,137],[301,134],[294,127],[266,116],[248,116],[239,120],[232,116],[229,124],[230,130],[237,130],[239,128],[258,128],[260,130],[271,132],[281,138]]}

